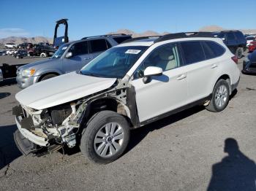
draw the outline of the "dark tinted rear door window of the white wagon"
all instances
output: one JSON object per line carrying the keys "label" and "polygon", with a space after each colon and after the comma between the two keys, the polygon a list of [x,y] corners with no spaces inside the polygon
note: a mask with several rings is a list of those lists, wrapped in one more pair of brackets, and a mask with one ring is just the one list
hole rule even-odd
{"label": "dark tinted rear door window of the white wagon", "polygon": [[186,64],[196,63],[205,60],[203,47],[200,42],[181,42]]}

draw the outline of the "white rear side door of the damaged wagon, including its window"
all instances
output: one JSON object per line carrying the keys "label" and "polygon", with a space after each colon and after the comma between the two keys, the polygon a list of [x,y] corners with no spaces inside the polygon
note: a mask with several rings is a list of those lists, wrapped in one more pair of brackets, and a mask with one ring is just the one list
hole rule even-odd
{"label": "white rear side door of the damaged wagon, including its window", "polygon": [[[208,96],[219,60],[203,41],[181,42],[187,64],[188,101],[192,103]],[[207,60],[206,60],[207,59]]]}

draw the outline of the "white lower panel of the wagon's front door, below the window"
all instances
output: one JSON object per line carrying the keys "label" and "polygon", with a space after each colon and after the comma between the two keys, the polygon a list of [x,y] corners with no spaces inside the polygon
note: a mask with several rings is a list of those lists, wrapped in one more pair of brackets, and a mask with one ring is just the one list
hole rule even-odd
{"label": "white lower panel of the wagon's front door, below the window", "polygon": [[152,77],[148,84],[144,84],[142,78],[132,81],[140,122],[187,104],[187,77],[178,79],[186,74],[185,66],[165,71],[160,77]]}

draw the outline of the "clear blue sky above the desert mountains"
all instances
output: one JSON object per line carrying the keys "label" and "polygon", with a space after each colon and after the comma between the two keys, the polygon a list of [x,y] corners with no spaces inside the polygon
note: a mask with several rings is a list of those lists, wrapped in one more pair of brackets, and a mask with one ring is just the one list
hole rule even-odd
{"label": "clear blue sky above the desert mountains", "polygon": [[52,37],[55,22],[61,18],[69,19],[69,39],[120,28],[138,33],[197,31],[211,25],[256,28],[255,5],[255,0],[1,0],[0,38]]}

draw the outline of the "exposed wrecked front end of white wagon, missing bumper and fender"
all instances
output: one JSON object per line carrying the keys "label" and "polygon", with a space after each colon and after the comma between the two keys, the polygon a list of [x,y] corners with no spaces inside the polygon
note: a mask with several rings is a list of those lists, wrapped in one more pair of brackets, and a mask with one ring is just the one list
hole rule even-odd
{"label": "exposed wrecked front end of white wagon, missing bumper and fender", "polygon": [[93,114],[113,110],[127,117],[132,127],[138,127],[135,90],[128,82],[118,80],[113,87],[48,109],[36,110],[28,106],[15,106],[12,113],[18,130],[15,143],[23,155],[40,156],[67,145],[80,144],[80,136]]}

